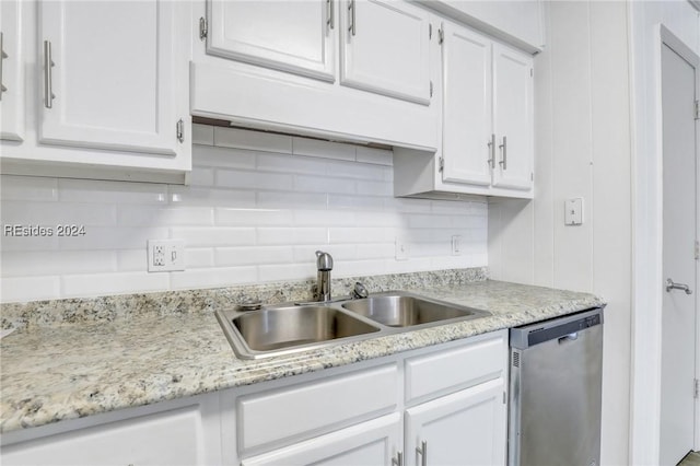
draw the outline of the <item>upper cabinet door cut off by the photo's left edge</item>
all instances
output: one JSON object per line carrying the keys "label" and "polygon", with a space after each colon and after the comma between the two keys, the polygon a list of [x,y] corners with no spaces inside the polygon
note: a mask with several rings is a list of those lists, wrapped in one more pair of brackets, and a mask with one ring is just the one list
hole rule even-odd
{"label": "upper cabinet door cut off by the photo's left edge", "polygon": [[0,20],[0,139],[24,140],[24,67],[22,63],[21,1],[2,1]]}

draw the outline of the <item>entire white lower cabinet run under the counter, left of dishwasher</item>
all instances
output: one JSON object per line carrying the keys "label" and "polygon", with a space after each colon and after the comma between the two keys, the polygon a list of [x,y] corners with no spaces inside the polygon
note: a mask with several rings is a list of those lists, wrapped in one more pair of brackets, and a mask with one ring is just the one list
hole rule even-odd
{"label": "entire white lower cabinet run under the counter, left of dishwasher", "polygon": [[3,466],[504,465],[508,330],[3,434]]}

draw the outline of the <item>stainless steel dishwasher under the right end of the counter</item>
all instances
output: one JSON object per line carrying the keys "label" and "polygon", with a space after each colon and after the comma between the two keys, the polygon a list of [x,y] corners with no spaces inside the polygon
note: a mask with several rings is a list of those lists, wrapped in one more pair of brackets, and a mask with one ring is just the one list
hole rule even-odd
{"label": "stainless steel dishwasher under the right end of the counter", "polygon": [[600,462],[603,308],[511,329],[509,465]]}

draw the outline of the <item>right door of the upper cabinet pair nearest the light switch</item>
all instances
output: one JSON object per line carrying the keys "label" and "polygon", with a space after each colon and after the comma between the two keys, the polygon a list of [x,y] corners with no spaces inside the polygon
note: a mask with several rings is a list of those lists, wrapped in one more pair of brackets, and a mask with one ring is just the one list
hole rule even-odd
{"label": "right door of the upper cabinet pair nearest the light switch", "polygon": [[499,44],[493,45],[493,185],[532,189],[533,58]]}

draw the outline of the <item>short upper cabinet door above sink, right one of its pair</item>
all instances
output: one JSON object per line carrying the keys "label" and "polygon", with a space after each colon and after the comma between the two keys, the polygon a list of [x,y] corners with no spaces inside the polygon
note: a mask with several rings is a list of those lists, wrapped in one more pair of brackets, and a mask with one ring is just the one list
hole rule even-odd
{"label": "short upper cabinet door above sink, right one of its pair", "polygon": [[341,84],[429,105],[429,14],[400,1],[340,5]]}

